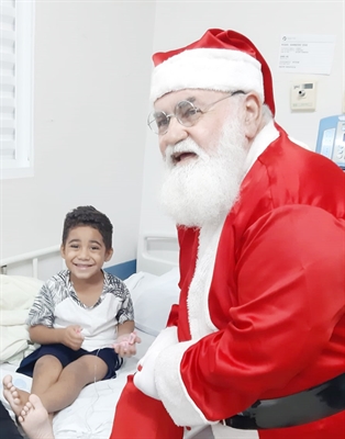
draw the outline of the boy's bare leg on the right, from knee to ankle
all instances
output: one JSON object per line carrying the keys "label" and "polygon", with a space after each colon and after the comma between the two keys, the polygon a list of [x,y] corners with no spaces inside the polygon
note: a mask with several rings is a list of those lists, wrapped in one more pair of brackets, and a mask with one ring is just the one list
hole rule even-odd
{"label": "boy's bare leg on the right, from knee to ankle", "polygon": [[102,380],[107,372],[108,365],[102,359],[86,354],[66,365],[58,380],[38,396],[48,413],[58,412],[74,403],[87,384]]}

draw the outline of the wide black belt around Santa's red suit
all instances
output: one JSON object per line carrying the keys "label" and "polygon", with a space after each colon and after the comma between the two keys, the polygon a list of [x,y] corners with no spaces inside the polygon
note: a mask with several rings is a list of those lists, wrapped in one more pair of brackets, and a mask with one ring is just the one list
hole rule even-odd
{"label": "wide black belt around Santa's red suit", "polygon": [[286,428],[312,423],[344,409],[345,373],[293,395],[257,401],[221,423],[244,430]]}

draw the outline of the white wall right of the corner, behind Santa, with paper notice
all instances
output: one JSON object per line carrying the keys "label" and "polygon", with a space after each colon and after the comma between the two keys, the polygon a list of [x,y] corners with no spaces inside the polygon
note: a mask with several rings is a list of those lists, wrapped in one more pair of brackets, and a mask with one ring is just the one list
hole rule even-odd
{"label": "white wall right of the corner, behind Santa, with paper notice", "polygon": [[[290,136],[315,149],[320,119],[342,112],[345,59],[344,11],[344,0],[321,2],[158,0],[154,52],[183,47],[200,38],[211,27],[232,29],[243,33],[253,41],[270,66],[274,77],[276,121]],[[336,35],[332,74],[330,76],[297,76],[278,71],[279,44],[283,33]],[[314,112],[291,113],[290,111],[290,83],[300,79],[316,79],[318,81],[316,111]],[[159,214],[157,191],[160,183],[160,162],[157,137],[147,133],[142,236],[151,234],[152,230],[158,230],[162,234],[175,233],[172,222]],[[152,169],[156,171],[153,172]],[[138,268],[141,268],[141,262],[138,262]]]}

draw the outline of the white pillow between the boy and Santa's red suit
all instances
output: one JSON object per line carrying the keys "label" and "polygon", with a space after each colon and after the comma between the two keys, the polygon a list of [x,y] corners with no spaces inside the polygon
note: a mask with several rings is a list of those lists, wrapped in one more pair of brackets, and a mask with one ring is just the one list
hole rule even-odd
{"label": "white pillow between the boy and Santa's red suit", "polygon": [[178,281],[177,267],[162,275],[138,272],[124,281],[133,300],[137,329],[157,336],[166,327],[170,308],[178,303]]}

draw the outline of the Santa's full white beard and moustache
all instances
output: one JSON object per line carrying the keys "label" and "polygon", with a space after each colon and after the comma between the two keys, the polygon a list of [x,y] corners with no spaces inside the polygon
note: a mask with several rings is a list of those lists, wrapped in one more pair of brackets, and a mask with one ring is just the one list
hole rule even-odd
{"label": "Santa's full white beard and moustache", "polygon": [[[216,224],[238,199],[247,154],[240,122],[226,121],[218,145],[210,150],[207,154],[189,137],[166,150],[160,202],[179,225]],[[198,157],[175,166],[171,154],[177,151],[193,151]]]}

